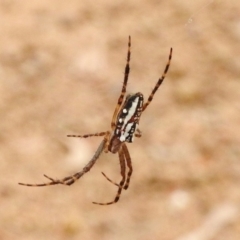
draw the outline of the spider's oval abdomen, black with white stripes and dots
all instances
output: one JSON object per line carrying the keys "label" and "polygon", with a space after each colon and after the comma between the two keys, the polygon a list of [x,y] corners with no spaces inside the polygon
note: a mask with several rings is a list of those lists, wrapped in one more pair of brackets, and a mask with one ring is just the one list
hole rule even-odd
{"label": "spider's oval abdomen, black with white stripes and dots", "polygon": [[114,134],[120,142],[133,142],[143,107],[142,93],[127,96],[119,111]]}

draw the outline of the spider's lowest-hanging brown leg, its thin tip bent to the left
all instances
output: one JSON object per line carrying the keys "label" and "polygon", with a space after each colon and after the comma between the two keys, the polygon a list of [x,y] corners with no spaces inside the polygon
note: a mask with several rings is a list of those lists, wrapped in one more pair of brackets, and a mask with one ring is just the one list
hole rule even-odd
{"label": "spider's lowest-hanging brown leg, its thin tip bent to the left", "polygon": [[121,166],[122,180],[119,183],[117,195],[116,195],[116,197],[114,198],[114,200],[112,202],[107,202],[107,203],[93,202],[94,204],[110,205],[110,204],[118,202],[118,200],[119,200],[119,198],[121,196],[121,192],[122,192],[122,189],[123,189],[123,186],[124,186],[124,183],[125,183],[125,179],[126,179],[126,176],[125,176],[126,175],[126,173],[125,173],[125,171],[126,171],[126,164],[125,164],[124,153],[123,153],[122,148],[119,149],[118,155],[119,155],[119,161],[120,161],[120,166]]}

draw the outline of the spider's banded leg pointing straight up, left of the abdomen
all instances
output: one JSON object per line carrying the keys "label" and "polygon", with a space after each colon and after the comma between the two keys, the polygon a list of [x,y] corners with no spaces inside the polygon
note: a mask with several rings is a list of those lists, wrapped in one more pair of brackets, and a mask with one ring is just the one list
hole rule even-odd
{"label": "spider's banded leg pointing straight up, left of the abdomen", "polygon": [[124,96],[126,94],[128,75],[129,75],[129,72],[130,72],[130,66],[129,66],[130,58],[131,58],[131,37],[129,36],[129,38],[128,38],[127,63],[126,63],[126,66],[125,66],[125,71],[124,71],[124,80],[123,80],[122,92],[121,92],[121,94],[118,98],[118,103],[117,103],[117,106],[116,106],[114,114],[113,114],[112,123],[111,123],[112,129],[115,129],[115,127],[116,127],[116,117],[117,117],[117,114],[118,114],[118,110],[121,107]]}

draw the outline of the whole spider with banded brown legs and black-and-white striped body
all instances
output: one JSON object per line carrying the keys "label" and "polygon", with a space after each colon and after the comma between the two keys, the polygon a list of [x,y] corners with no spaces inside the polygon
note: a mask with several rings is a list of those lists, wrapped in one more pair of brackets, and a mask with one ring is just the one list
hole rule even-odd
{"label": "whole spider with banded brown legs and black-and-white striped body", "polygon": [[[96,153],[92,157],[92,159],[88,162],[88,164],[82,169],[82,171],[77,172],[71,176],[62,178],[62,179],[53,179],[44,174],[48,180],[47,183],[42,184],[29,184],[29,183],[19,183],[20,185],[30,186],[30,187],[42,187],[42,186],[50,186],[56,184],[63,184],[63,185],[72,185],[75,183],[79,178],[81,178],[85,173],[90,171],[93,165],[96,163],[97,159],[100,157],[102,152],[105,153],[118,153],[119,161],[120,161],[120,168],[121,168],[121,181],[119,183],[113,182],[110,178],[108,178],[103,172],[103,176],[116,185],[118,187],[117,194],[115,198],[106,203],[101,202],[93,202],[94,204],[99,205],[110,205],[118,202],[121,196],[121,192],[123,189],[127,190],[131,175],[133,172],[131,157],[127,148],[126,143],[131,143],[134,140],[134,137],[141,137],[141,131],[138,128],[139,120],[143,111],[146,110],[148,105],[151,103],[154,94],[162,84],[172,58],[172,48],[170,49],[168,62],[163,72],[161,78],[158,79],[154,89],[152,90],[150,96],[148,97],[147,102],[144,102],[143,94],[138,92],[135,94],[126,95],[126,88],[128,82],[128,76],[130,72],[130,57],[131,57],[131,37],[129,36],[128,39],[128,51],[127,51],[127,62],[125,66],[124,72],[124,81],[122,85],[122,91],[118,98],[117,106],[115,108],[112,122],[111,122],[111,131],[105,132],[98,132],[94,134],[85,134],[85,135],[67,135],[67,137],[77,137],[77,138],[88,138],[88,137],[98,137],[102,136],[103,140],[100,143]],[[128,168],[126,174],[126,167]]]}

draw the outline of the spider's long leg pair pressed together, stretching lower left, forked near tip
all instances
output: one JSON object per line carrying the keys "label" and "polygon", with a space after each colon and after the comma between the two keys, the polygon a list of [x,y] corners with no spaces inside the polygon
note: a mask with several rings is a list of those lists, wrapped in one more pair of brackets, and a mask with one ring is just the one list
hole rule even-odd
{"label": "spider's long leg pair pressed together, stretching lower left, forked near tip", "polygon": [[88,164],[83,168],[81,172],[77,172],[71,176],[68,176],[59,180],[53,179],[47,175],[44,175],[44,177],[50,180],[50,182],[47,182],[47,183],[41,183],[41,184],[18,183],[18,184],[23,186],[28,186],[28,187],[44,187],[44,186],[50,186],[50,185],[56,185],[56,184],[63,184],[63,185],[70,186],[73,183],[75,183],[79,178],[81,178],[85,173],[90,171],[90,169],[93,167],[93,165],[96,163],[97,159],[100,157],[101,153],[103,152],[105,144],[106,144],[106,140],[104,139],[99,145],[92,159],[88,162]]}

